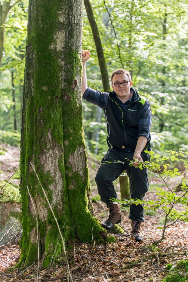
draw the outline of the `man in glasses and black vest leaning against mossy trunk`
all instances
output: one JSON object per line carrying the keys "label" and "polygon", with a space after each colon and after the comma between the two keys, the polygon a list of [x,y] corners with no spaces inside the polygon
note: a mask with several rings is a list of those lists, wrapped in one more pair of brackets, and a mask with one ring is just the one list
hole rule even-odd
{"label": "man in glasses and black vest leaning against mossy trunk", "polygon": [[[120,206],[110,200],[117,198],[112,181],[126,170],[132,199],[143,199],[149,189],[147,169],[141,170],[135,166],[139,165],[139,161],[149,161],[149,155],[144,150],[151,150],[151,110],[149,102],[140,98],[137,91],[131,87],[130,73],[124,69],[112,73],[112,92],[100,92],[88,87],[85,64],[89,58],[89,50],[82,50],[82,96],[86,101],[101,107],[105,114],[108,132],[106,141],[109,149],[101,161],[95,181],[101,201],[109,208],[109,217],[102,226],[112,230],[114,225],[121,221]],[[134,166],[129,166],[125,158],[135,160]],[[114,162],[117,160],[123,163]],[[129,218],[131,235],[138,242],[143,242],[140,234],[141,223],[144,222],[143,207],[131,205]]]}

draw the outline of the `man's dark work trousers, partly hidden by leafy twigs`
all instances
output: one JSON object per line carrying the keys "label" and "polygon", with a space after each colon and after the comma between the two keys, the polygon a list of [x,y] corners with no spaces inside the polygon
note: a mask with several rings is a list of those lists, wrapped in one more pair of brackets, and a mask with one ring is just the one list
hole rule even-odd
{"label": "man's dark work trousers, partly hidden by leafy twigs", "polygon": [[[134,152],[125,153],[124,151],[109,148],[106,155],[101,161],[101,165],[97,171],[95,181],[97,183],[98,193],[103,203],[109,204],[110,198],[117,198],[114,188],[114,181],[122,172],[126,171],[129,178],[130,197],[132,199],[142,200],[145,193],[149,189],[148,169],[142,170],[138,167],[129,166],[128,163],[105,163],[114,162],[115,160],[125,162],[125,158],[133,160]],[[149,161],[150,157],[145,152],[141,153],[143,161]],[[130,205],[129,218],[131,220],[139,220],[144,222],[144,211],[142,205]]]}

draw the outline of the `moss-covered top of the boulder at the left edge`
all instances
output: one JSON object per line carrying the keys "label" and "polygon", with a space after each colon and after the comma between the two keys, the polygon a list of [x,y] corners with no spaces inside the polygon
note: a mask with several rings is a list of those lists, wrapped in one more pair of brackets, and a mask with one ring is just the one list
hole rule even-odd
{"label": "moss-covered top of the boulder at the left edge", "polygon": [[20,192],[11,184],[6,184],[5,181],[0,181],[0,193],[2,189],[3,192],[0,195],[0,203],[21,203]]}

